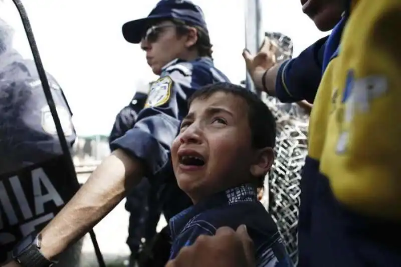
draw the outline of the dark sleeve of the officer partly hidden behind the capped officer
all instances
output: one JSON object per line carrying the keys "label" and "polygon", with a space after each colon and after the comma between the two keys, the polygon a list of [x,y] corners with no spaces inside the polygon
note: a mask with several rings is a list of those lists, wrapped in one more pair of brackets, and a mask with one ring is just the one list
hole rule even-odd
{"label": "dark sleeve of the officer partly hidden behind the capped officer", "polygon": [[147,94],[137,92],[131,102],[121,109],[117,114],[113,128],[111,129],[109,144],[115,139],[123,136],[125,132],[134,126],[138,113],[145,105],[146,98]]}

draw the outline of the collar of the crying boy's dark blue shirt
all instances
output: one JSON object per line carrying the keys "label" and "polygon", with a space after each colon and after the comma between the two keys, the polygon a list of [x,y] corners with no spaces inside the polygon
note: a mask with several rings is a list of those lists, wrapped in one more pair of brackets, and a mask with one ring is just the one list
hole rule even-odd
{"label": "collar of the crying boy's dark blue shirt", "polygon": [[207,199],[184,209],[170,219],[171,238],[174,240],[191,221],[196,219],[198,214],[208,209],[254,201],[258,201],[257,190],[254,185],[248,183],[211,195]]}

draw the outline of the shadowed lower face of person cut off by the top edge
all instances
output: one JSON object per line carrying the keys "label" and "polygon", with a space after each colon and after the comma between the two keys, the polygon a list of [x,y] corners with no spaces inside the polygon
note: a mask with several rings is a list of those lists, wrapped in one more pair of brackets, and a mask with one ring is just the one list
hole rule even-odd
{"label": "shadowed lower face of person cut off by the top edge", "polygon": [[320,30],[330,30],[340,20],[345,0],[301,0],[302,10]]}

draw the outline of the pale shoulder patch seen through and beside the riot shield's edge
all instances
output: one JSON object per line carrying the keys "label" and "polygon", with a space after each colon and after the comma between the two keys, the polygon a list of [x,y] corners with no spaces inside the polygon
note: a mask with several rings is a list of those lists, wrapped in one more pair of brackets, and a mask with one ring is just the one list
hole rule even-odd
{"label": "pale shoulder patch seen through and beside the riot shield's edge", "polygon": [[[63,106],[56,106],[57,114],[59,115],[61,126],[63,128],[65,136],[71,136],[74,133],[73,125],[71,121],[70,113]],[[54,123],[52,113],[48,105],[41,109],[42,118],[42,128],[45,132],[57,135],[56,124]]]}

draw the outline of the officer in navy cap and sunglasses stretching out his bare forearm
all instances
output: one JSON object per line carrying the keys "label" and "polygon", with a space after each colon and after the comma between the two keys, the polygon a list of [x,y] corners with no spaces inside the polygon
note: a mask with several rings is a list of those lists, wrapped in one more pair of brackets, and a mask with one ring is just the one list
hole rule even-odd
{"label": "officer in navy cap and sunglasses stretching out his bare forearm", "polygon": [[200,86],[228,81],[213,65],[204,14],[190,1],[161,0],[146,18],[124,24],[123,34],[127,41],[140,43],[149,66],[160,78],[152,83],[135,125],[111,143],[111,155],[39,234],[16,246],[15,260],[8,266],[19,265],[16,262],[23,266],[50,265],[144,175],[160,182],[167,176],[161,172],[168,166],[179,120],[188,111],[186,99]]}

